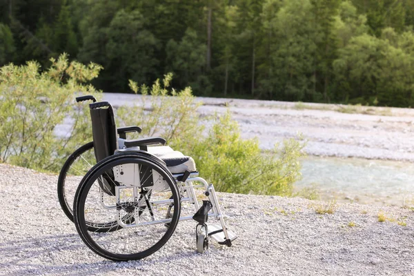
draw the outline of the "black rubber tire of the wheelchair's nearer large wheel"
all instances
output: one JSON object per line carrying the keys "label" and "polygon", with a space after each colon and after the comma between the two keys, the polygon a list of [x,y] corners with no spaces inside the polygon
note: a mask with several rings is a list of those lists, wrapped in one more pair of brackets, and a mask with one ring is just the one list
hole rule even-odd
{"label": "black rubber tire of the wheelchair's nearer large wheel", "polygon": [[[137,252],[137,253],[112,253],[106,248],[102,248],[95,242],[91,237],[90,224],[88,221],[85,221],[84,208],[86,197],[88,196],[91,186],[95,183],[96,179],[106,170],[112,168],[113,166],[118,166],[121,164],[144,164],[157,170],[157,172],[167,181],[172,193],[172,199],[174,203],[174,210],[172,214],[172,219],[169,223],[169,227],[166,230],[166,233],[162,235],[158,242],[147,248],[146,250]],[[111,259],[113,261],[129,261],[135,259],[142,259],[148,257],[149,255],[155,253],[159,248],[164,246],[168,239],[170,239],[172,233],[174,233],[177,223],[179,221],[180,214],[180,199],[179,191],[177,189],[177,184],[174,177],[172,177],[170,171],[162,164],[159,159],[152,157],[144,152],[122,152],[117,155],[112,155],[103,159],[98,164],[96,164],[86,175],[83,177],[81,184],[75,195],[75,205],[74,205],[74,217],[75,217],[75,226],[77,231],[83,240],[83,242],[95,253],[106,259]],[[139,214],[141,215],[141,213]],[[118,226],[117,230],[120,230],[121,226]]]}

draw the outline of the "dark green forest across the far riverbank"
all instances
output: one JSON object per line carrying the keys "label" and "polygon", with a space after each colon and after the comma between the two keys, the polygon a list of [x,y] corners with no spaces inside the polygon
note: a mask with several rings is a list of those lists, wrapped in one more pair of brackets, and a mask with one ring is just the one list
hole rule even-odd
{"label": "dark green forest across the far riverbank", "polygon": [[68,53],[131,92],[414,106],[414,0],[2,0],[0,66]]}

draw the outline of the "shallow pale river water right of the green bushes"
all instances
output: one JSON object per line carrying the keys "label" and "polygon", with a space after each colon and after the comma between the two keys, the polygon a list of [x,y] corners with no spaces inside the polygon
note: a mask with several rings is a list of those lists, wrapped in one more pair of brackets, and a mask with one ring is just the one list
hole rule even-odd
{"label": "shallow pale river water right of the green bushes", "polygon": [[414,164],[403,161],[307,157],[297,189],[315,185],[321,199],[414,206]]}

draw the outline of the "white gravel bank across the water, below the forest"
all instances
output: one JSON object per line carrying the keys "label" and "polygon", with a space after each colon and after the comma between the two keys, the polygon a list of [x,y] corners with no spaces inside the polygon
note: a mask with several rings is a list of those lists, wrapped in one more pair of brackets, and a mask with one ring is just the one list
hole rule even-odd
{"label": "white gravel bank across the water, below the forest", "polygon": [[[103,93],[113,106],[132,105],[140,95]],[[375,114],[332,111],[334,105],[304,103],[315,109],[297,110],[297,103],[246,99],[197,97],[204,103],[202,117],[230,109],[239,123],[242,137],[257,137],[261,148],[273,149],[278,141],[301,133],[308,141],[309,155],[358,157],[414,161],[414,110],[411,108],[369,108]],[[226,107],[228,106],[228,107]]]}

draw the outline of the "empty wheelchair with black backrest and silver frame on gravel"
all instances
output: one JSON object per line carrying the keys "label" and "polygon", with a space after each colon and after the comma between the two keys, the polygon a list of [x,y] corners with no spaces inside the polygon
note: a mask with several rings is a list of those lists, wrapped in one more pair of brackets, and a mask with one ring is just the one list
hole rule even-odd
{"label": "empty wheelchair with black backrest and silver frame on gravel", "polygon": [[[63,166],[59,175],[63,179],[59,201],[86,246],[114,261],[141,259],[168,242],[178,221],[191,219],[197,221],[199,253],[208,249],[209,237],[232,245],[237,235],[226,228],[215,188],[199,177],[193,158],[165,146],[166,140],[160,137],[127,140],[127,132],[140,132],[140,128],[117,128],[113,108],[106,101],[94,101],[89,107],[93,141],[66,161],[67,165],[85,159],[90,167],[84,175],[75,168],[72,209],[68,191],[62,189],[72,178],[63,169],[72,166]],[[79,155],[92,155],[92,151],[93,166],[90,156]],[[209,218],[218,223],[207,224]]]}

